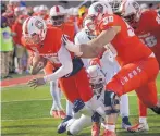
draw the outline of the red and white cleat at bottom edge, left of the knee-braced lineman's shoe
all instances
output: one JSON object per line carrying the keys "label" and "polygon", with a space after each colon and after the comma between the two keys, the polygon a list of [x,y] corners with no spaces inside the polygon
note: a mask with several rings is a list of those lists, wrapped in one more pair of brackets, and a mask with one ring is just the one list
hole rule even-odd
{"label": "red and white cleat at bottom edge, left of the knee-braced lineman's shoe", "polygon": [[100,124],[94,122],[91,127],[91,136],[99,136],[100,135]]}

